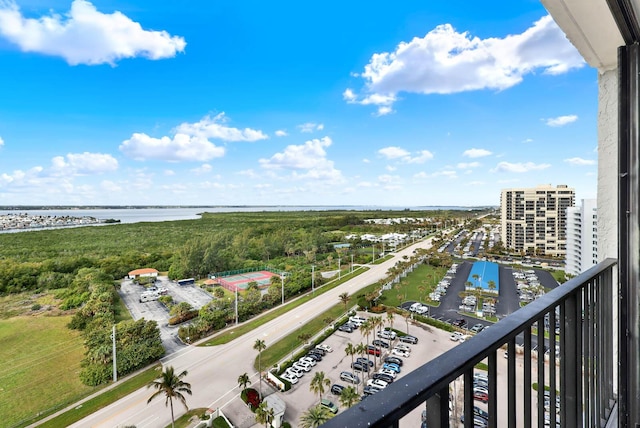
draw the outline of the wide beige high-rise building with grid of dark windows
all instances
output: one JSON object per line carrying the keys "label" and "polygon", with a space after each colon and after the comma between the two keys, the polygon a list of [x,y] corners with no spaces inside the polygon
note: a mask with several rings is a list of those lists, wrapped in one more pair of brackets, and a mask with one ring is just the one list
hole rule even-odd
{"label": "wide beige high-rise building with grid of dark windows", "polygon": [[504,247],[564,257],[567,208],[574,205],[575,190],[566,185],[503,189],[500,211]]}

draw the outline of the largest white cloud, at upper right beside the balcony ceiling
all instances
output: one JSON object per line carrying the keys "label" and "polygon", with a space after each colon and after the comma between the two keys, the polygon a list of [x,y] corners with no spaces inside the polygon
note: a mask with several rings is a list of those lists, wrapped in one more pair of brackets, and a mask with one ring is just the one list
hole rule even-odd
{"label": "largest white cloud, at upper right beside the balcony ceiling", "polygon": [[365,95],[359,97],[347,89],[343,98],[349,103],[391,107],[400,92],[504,90],[529,73],[561,74],[584,64],[549,15],[523,33],[503,38],[480,39],[443,24],[424,37],[399,43],[393,52],[373,54],[360,74]]}

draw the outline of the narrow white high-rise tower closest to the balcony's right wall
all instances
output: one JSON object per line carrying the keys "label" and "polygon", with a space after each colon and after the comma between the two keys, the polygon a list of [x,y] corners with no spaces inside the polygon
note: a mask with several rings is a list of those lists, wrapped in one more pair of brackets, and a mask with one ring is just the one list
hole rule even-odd
{"label": "narrow white high-rise tower closest to the balcony's right wall", "polygon": [[565,271],[578,275],[598,264],[598,215],[595,199],[583,199],[567,208],[567,258]]}

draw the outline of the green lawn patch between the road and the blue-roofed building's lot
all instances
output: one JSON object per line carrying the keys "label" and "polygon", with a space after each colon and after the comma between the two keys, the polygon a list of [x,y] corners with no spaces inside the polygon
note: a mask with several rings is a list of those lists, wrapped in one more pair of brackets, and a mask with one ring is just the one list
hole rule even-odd
{"label": "green lawn patch between the road and the blue-roofed building's lot", "polygon": [[446,273],[447,268],[445,267],[421,264],[406,278],[394,285],[391,290],[384,291],[381,302],[387,306],[398,306],[408,300],[430,303],[429,293],[435,290],[436,285]]}

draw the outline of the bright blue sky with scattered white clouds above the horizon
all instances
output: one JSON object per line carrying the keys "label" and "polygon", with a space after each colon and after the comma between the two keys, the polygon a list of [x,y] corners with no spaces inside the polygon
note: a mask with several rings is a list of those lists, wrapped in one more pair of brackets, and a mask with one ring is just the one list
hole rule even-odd
{"label": "bright blue sky with scattered white clouds above the horizon", "polygon": [[476,3],[0,0],[0,205],[594,198],[597,72]]}

